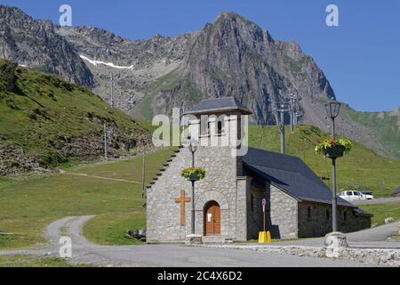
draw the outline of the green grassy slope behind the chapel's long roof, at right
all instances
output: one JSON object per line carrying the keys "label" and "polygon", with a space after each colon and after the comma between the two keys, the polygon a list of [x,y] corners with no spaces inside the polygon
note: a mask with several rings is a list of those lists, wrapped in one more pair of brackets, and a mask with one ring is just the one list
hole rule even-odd
{"label": "green grassy slope behind the chapel's long roof, at right", "polygon": [[[323,132],[313,126],[296,126],[294,134],[285,128],[286,153],[300,157],[316,175],[331,178],[332,161],[316,155],[316,143]],[[250,126],[249,145],[269,151],[280,151],[276,126]],[[375,197],[389,197],[400,185],[400,161],[385,159],[354,142],[353,150],[337,160],[338,189],[372,190]],[[324,180],[331,186],[331,180]]]}

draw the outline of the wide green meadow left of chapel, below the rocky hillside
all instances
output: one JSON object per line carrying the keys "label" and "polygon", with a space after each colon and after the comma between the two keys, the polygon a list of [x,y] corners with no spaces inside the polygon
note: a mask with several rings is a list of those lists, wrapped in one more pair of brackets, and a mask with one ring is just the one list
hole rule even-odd
{"label": "wide green meadow left of chapel, below the rocky hillside", "polygon": [[[147,183],[171,154],[172,150],[167,149],[147,155]],[[0,232],[13,234],[0,236],[0,249],[25,248],[44,242],[44,228],[64,216],[142,212],[141,163],[138,157],[72,167],[63,175],[0,181]],[[126,179],[129,183],[74,173]],[[126,228],[131,226],[127,224]]]}

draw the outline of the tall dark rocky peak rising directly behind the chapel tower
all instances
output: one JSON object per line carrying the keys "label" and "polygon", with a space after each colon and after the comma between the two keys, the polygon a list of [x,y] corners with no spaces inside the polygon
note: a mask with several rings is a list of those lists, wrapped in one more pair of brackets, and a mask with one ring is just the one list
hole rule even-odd
{"label": "tall dark rocky peak rising directly behind the chapel tower", "polygon": [[173,88],[157,89],[154,113],[234,96],[252,110],[253,123],[270,124],[276,121],[272,102],[290,94],[310,101],[335,97],[322,70],[299,45],[274,40],[266,29],[234,12],[221,13],[193,36],[178,73]]}

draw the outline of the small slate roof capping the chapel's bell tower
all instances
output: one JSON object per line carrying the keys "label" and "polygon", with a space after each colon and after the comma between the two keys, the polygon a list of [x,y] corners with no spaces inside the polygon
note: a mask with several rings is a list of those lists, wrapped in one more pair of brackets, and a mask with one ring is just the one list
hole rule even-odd
{"label": "small slate roof capping the chapel's bell tower", "polygon": [[252,114],[251,110],[248,110],[240,102],[237,102],[234,97],[202,100],[201,102],[198,102],[196,105],[194,105],[192,109],[189,110],[186,114],[202,114],[225,110],[239,110],[244,114]]}

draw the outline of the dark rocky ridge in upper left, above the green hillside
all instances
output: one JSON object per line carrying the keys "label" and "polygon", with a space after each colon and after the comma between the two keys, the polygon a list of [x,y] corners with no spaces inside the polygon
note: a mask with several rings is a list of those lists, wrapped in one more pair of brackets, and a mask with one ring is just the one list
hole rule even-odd
{"label": "dark rocky ridge in upper left, above the green hillside", "polygon": [[33,20],[18,8],[0,5],[0,56],[36,71],[65,77],[92,87],[91,71],[78,53],[56,32],[52,22]]}

